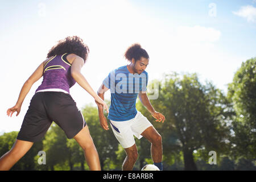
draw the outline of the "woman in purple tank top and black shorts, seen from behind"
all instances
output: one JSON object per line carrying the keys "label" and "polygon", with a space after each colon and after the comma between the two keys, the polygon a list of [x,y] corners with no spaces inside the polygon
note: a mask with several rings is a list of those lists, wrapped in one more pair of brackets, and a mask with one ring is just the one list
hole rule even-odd
{"label": "woman in purple tank top and black shorts, seen from behind", "polygon": [[88,126],[69,94],[69,88],[77,82],[108,111],[108,106],[81,74],[88,53],[88,46],[78,36],[60,40],[50,49],[47,59],[24,83],[16,105],[7,110],[10,117],[15,112],[16,116],[20,113],[22,102],[31,86],[43,76],[42,84],[31,99],[14,146],[0,158],[0,170],[13,167],[30,150],[34,142],[43,138],[52,121],[64,130],[68,138],[74,138],[80,144],[90,170],[101,169]]}

